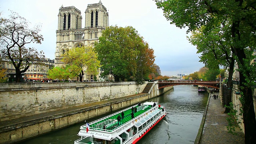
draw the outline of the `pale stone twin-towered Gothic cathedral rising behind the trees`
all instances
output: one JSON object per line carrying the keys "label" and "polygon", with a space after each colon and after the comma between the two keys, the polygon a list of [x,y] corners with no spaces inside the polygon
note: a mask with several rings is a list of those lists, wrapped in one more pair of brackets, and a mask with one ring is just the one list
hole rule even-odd
{"label": "pale stone twin-towered Gothic cathedral rising behind the trees", "polygon": [[[108,26],[108,12],[102,2],[88,4],[85,11],[85,27],[82,28],[81,11],[74,6],[61,6],[58,14],[58,30],[56,30],[55,66],[62,66],[62,54],[79,46],[94,46],[94,42]],[[84,80],[92,79],[85,74]]]}

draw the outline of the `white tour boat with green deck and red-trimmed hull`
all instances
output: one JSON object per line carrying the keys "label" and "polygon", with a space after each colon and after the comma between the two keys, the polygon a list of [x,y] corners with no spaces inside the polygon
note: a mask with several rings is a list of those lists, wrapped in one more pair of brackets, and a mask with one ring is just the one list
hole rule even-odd
{"label": "white tour boat with green deck and red-trimmed hull", "polygon": [[[121,117],[119,124],[118,116]],[[81,138],[75,140],[74,144],[135,144],[164,116],[166,110],[157,102],[139,103],[80,126],[77,135]]]}

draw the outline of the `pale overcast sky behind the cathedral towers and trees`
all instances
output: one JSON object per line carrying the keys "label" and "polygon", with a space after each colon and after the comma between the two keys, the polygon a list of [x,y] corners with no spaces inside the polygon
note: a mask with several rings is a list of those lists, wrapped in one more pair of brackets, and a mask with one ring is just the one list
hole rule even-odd
{"label": "pale overcast sky behind the cathedral towers and trees", "polygon": [[[54,59],[56,48],[56,30],[58,28],[59,8],[63,5],[74,6],[81,11],[82,28],[85,22],[85,10],[88,4],[99,0],[0,0],[2,17],[8,17],[10,11],[17,12],[32,25],[41,24],[42,44],[36,47],[43,50],[45,56]],[[101,0],[109,12],[109,25],[132,26],[154,49],[156,65],[162,75],[190,74],[204,65],[199,61],[196,47],[186,38],[186,30],[171,25],[163,16],[153,0]]]}

